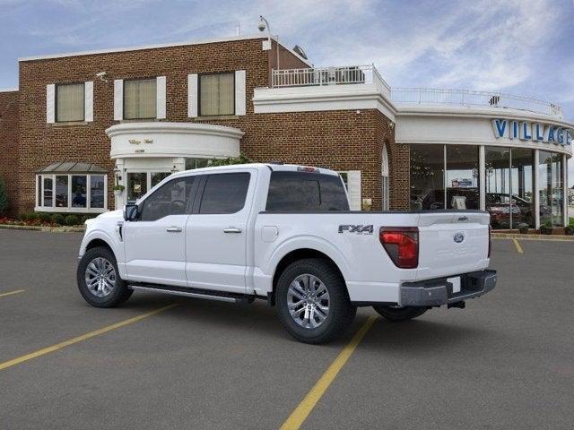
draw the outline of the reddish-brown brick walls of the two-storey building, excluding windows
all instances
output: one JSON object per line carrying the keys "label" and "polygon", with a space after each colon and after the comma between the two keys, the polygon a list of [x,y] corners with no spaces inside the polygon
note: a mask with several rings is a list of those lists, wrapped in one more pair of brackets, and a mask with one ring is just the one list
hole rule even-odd
{"label": "reddish-brown brick walls of the two-storey building, excluding windows", "polygon": [[[17,193],[14,186],[11,188],[16,209],[33,209],[35,173],[51,163],[83,161],[108,168],[109,185],[112,185],[114,162],[109,157],[110,142],[105,130],[118,124],[113,120],[113,80],[156,76],[167,78],[167,117],[161,121],[197,121],[239,128],[245,133],[240,143],[241,150],[255,161],[281,160],[336,170],[361,170],[362,197],[372,198],[373,210],[381,208],[382,148],[387,142],[391,164],[391,208],[408,209],[408,149],[396,145],[392,123],[378,110],[362,110],[360,113],[355,110],[254,113],[251,102],[254,89],[269,86],[270,70],[276,62],[274,50],[262,50],[263,39],[22,61],[15,119],[20,126],[13,128],[10,125],[6,132],[3,125],[2,132],[18,136],[17,150],[9,151],[13,157],[9,164],[18,166],[17,180],[10,177],[11,186],[18,184]],[[280,66],[302,68],[308,65],[282,48]],[[236,70],[245,70],[247,76],[245,116],[187,117],[188,73]],[[95,74],[99,72],[107,73],[108,82],[96,78]],[[72,125],[47,124],[46,85],[86,81],[94,82],[94,121]],[[8,97],[5,94],[10,93],[4,93],[4,98]],[[3,106],[1,100],[0,107]],[[4,142],[8,141],[10,139],[3,139],[0,144],[5,145]],[[113,208],[113,200],[109,192],[110,209]]]}

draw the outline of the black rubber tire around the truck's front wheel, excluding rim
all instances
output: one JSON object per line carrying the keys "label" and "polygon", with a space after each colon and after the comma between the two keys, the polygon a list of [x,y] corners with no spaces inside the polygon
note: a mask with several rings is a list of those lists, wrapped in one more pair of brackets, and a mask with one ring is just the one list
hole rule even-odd
{"label": "black rubber tire around the truck's front wheel, excluding rim", "polygon": [[[111,292],[105,297],[98,297],[91,293],[85,280],[85,273],[88,264],[93,262],[97,258],[102,258],[110,262],[116,273],[114,287]],[[78,264],[78,271],[76,273],[76,280],[78,283],[78,289],[83,299],[92,306],[96,307],[114,307],[124,303],[134,292],[134,290],[127,288],[125,280],[119,277],[119,271],[117,271],[116,256],[111,250],[105,246],[97,246],[86,251],[83,254],[82,260]]]}

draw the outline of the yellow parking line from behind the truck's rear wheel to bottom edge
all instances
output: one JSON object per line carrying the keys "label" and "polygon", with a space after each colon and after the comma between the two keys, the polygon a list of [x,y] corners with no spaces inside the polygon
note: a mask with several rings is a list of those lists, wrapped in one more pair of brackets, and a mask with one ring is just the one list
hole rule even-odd
{"label": "yellow parking line from behind the truck's rear wheel to bottom edge", "polygon": [[336,375],[339,374],[349,357],[352,356],[355,348],[357,348],[357,345],[361,343],[362,338],[365,336],[367,331],[369,331],[370,326],[373,325],[375,320],[377,320],[377,317],[371,315],[369,319],[364,324],[362,324],[361,329],[357,331],[352,340],[347,344],[346,347],[344,347],[343,351],[339,353],[339,355],[335,358],[335,361],[326,369],[325,373],[319,378],[317,383],[315,383],[315,386],[313,386],[311,391],[309,391],[309,393],[305,396],[305,399],[300,402],[299,406],[293,410],[291,415],[283,423],[281,430],[298,429],[303,424],[305,419],[309,417],[309,414],[313,408],[315,408],[317,402],[321,399],[321,397],[323,397],[323,394],[325,394],[325,391],[327,388],[329,388],[329,385],[333,383]]}

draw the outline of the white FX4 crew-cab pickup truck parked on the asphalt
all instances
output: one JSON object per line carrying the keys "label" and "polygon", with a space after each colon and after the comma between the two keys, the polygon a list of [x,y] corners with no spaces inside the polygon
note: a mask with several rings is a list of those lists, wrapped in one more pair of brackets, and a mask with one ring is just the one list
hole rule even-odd
{"label": "white FX4 crew-cab pickup truck parked on the asphalt", "polygon": [[483,211],[349,211],[324,168],[248,164],[161,181],[86,222],[78,288],[94,306],[134,290],[276,305],[296,340],[333,340],[357,306],[405,321],[494,288]]}

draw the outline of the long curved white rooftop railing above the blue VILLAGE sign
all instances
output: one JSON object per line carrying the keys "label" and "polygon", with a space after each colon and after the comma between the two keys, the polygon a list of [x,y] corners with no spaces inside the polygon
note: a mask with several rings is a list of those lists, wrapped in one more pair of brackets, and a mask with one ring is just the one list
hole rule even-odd
{"label": "long curved white rooftop railing above the blue VILLAGE sign", "polygon": [[560,106],[528,97],[502,92],[474,90],[439,90],[433,88],[393,88],[391,99],[396,103],[438,103],[462,106],[501,107],[526,110],[563,118]]}

